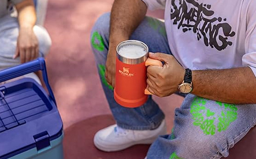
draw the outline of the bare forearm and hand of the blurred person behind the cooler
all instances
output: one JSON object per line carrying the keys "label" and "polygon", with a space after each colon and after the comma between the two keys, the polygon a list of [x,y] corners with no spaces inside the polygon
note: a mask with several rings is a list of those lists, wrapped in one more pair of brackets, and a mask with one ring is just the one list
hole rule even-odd
{"label": "bare forearm and hand of the blurred person behind the cooler", "polygon": [[[15,2],[15,0],[13,0]],[[33,0],[16,3],[18,11],[19,36],[14,58],[20,56],[21,63],[29,62],[38,57],[38,39],[33,31],[36,23],[36,12]]]}

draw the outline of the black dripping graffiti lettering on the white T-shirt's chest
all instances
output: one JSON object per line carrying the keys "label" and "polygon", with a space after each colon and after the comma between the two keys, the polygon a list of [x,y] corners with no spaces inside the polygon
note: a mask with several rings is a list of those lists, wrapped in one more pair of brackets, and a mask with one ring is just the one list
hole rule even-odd
{"label": "black dripping graffiti lettering on the white T-shirt's chest", "polygon": [[221,51],[232,45],[228,37],[235,36],[235,32],[227,19],[214,17],[214,11],[210,9],[211,5],[195,0],[171,0],[171,20],[184,33],[193,31],[197,40],[203,39],[206,46]]}

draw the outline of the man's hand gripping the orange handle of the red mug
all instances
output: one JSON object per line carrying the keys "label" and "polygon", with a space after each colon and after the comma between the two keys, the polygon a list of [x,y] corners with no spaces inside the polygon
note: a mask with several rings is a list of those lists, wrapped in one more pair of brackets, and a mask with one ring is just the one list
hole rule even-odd
{"label": "man's hand gripping the orange handle of the red mug", "polygon": [[178,91],[185,76],[185,69],[177,60],[168,54],[149,53],[149,57],[164,62],[164,66],[149,66],[147,68],[147,84],[149,92],[159,97],[166,97]]}

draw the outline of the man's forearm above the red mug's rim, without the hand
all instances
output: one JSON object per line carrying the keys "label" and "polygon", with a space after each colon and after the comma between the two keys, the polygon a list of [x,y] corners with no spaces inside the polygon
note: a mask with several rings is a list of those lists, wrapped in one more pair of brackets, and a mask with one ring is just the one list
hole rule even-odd
{"label": "man's forearm above the red mug's rim, without the hand", "polygon": [[147,6],[141,0],[115,0],[111,10],[109,45],[128,40],[146,12]]}

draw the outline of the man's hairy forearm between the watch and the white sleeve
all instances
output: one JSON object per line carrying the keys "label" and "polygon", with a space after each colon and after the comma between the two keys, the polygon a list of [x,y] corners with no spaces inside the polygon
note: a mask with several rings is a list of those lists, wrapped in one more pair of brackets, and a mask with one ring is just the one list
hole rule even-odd
{"label": "man's hairy forearm between the watch and the white sleeve", "polygon": [[249,67],[192,71],[192,93],[231,104],[256,104],[256,78]]}

